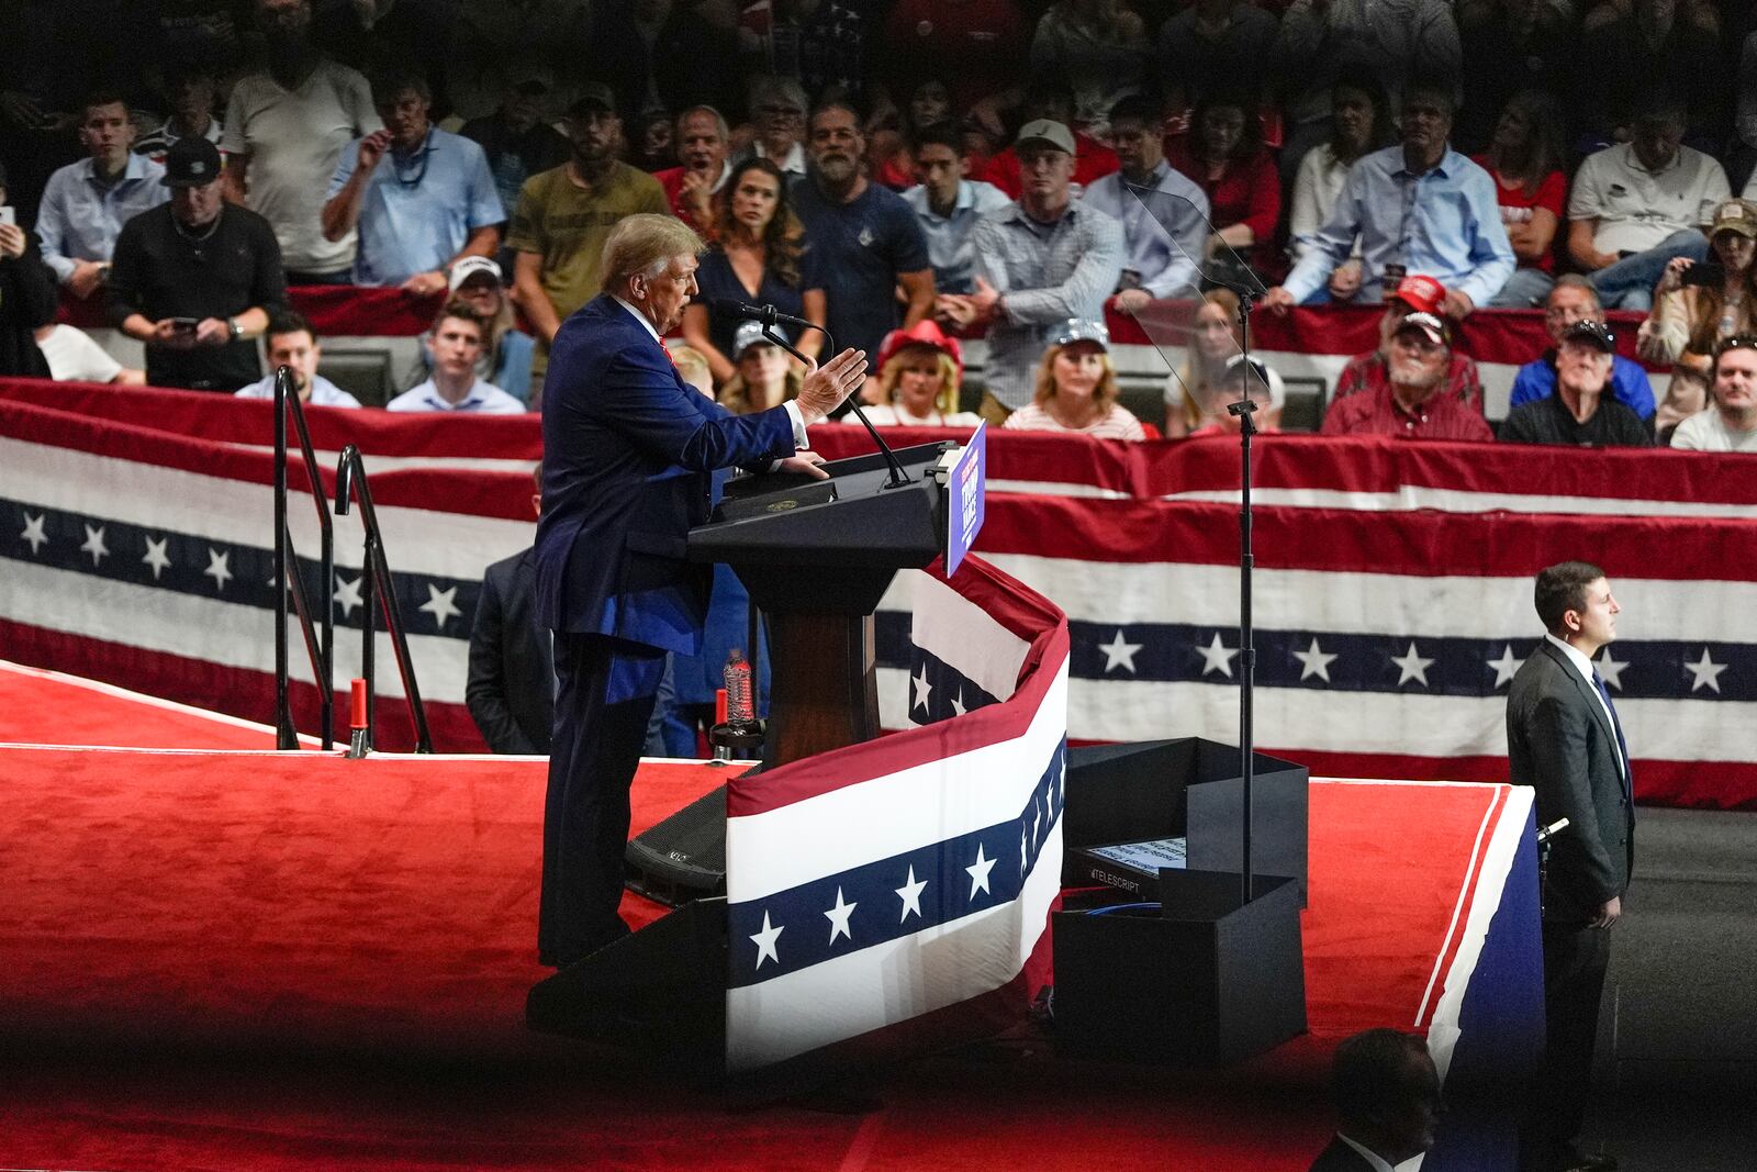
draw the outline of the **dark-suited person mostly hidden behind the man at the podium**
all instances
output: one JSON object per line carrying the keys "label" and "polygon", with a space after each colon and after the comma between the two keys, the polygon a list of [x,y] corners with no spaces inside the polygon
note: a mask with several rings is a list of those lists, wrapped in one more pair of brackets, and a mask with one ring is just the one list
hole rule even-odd
{"label": "dark-suited person mostly hidden behind the man at the podium", "polygon": [[[531,511],[543,511],[538,464]],[[531,546],[481,571],[481,594],[469,629],[464,703],[490,752],[546,754],[555,722],[555,659],[550,633],[538,626],[538,568]]]}

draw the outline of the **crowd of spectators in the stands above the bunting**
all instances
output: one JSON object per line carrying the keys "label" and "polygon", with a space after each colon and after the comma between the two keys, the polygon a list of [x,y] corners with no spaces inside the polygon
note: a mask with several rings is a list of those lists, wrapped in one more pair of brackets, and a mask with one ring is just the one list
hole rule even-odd
{"label": "crowd of spectators in the stands above the bunting", "polygon": [[[710,251],[682,327],[757,409],[770,304],[880,357],[886,422],[1193,436],[1277,425],[1270,311],[1385,304],[1323,430],[1488,439],[1457,323],[1544,309],[1502,439],[1739,446],[1757,330],[1757,14],[1704,0],[5,0],[0,373],[318,404],[288,285],[443,304],[392,409],[541,406],[633,213]],[[1745,5],[1748,7],[1748,5]],[[88,300],[125,369],[56,320]],[[1165,415],[1105,313],[1177,300]],[[1646,313],[1655,402],[1604,309]],[[1623,341],[1627,348],[1629,339]],[[1724,362],[1727,355],[1731,360]],[[887,369],[898,364],[894,371]],[[1725,369],[1724,369],[1725,367]],[[1731,373],[1729,373],[1731,371]],[[1688,427],[1687,427],[1688,425]]]}

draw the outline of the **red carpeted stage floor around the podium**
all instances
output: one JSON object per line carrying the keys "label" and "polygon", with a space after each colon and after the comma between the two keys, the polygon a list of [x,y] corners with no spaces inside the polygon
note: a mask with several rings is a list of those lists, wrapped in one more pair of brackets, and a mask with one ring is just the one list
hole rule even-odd
{"label": "red carpeted stage floor around the podium", "polygon": [[[265,729],[12,669],[0,713],[5,1167],[1304,1168],[1335,1040],[1421,1028],[1488,1068],[1530,959],[1525,791],[1314,782],[1309,1037],[1191,1075],[1033,1028],[878,1077],[864,1116],[740,1107],[525,1031],[541,761],[249,752]],[[118,740],[158,749],[65,747]],[[645,764],[636,831],[722,775]]]}

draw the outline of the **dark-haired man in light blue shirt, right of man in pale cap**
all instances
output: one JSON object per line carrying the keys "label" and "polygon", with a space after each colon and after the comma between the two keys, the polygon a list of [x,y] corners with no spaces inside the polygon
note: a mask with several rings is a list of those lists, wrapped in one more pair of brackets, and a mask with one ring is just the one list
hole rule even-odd
{"label": "dark-haired man in light blue shirt, right of man in pale cap", "polygon": [[1209,235],[1209,202],[1200,186],[1165,162],[1165,125],[1147,98],[1110,107],[1110,141],[1123,169],[1093,181],[1081,202],[1123,225],[1123,276],[1116,302],[1140,313],[1163,297],[1197,292]]}

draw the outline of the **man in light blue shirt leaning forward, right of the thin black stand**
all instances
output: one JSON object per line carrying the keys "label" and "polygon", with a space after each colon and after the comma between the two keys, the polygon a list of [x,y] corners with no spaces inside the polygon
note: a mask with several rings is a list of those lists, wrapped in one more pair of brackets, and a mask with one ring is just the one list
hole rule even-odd
{"label": "man in light blue shirt leaning forward, right of the thin black stand", "polygon": [[[1409,272],[1446,286],[1444,309],[1464,318],[1513,276],[1516,260],[1493,177],[1446,142],[1448,90],[1411,86],[1404,97],[1404,142],[1356,162],[1330,221],[1307,237],[1305,255],[1263,304],[1286,311],[1325,300],[1381,300]],[[1360,237],[1365,265],[1358,288],[1330,281]]]}

